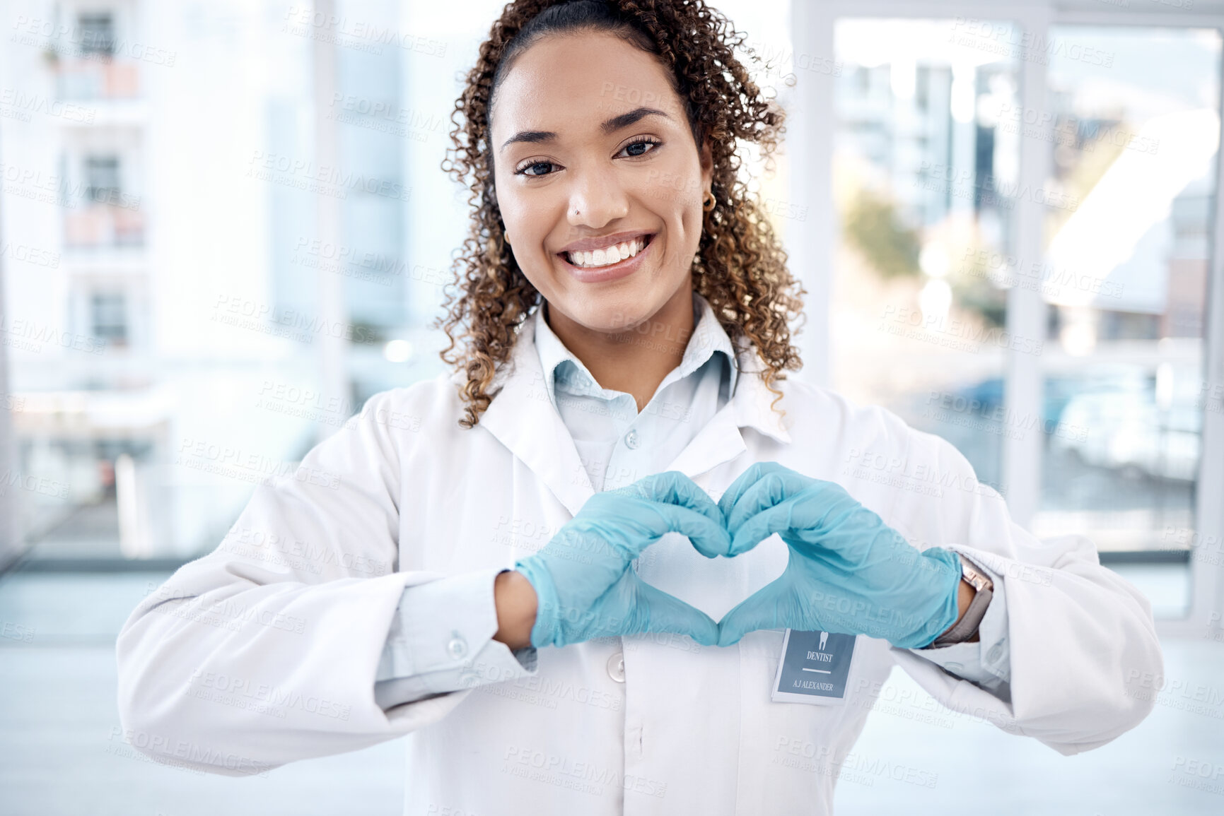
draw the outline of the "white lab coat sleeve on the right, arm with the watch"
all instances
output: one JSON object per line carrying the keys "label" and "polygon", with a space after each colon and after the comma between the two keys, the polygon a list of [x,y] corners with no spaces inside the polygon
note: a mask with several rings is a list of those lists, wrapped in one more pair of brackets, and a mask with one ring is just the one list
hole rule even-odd
{"label": "white lab coat sleeve on the right, arm with the watch", "polygon": [[955,447],[884,414],[881,449],[897,464],[881,515],[920,549],[956,549],[993,573],[1005,602],[988,629],[1006,609],[1007,639],[984,634],[982,664],[1009,688],[995,696],[908,650],[892,648],[896,662],[949,708],[1065,755],[1137,725],[1154,705],[1140,678],[1163,673],[1148,599],[1100,565],[1087,537],[1038,540]]}

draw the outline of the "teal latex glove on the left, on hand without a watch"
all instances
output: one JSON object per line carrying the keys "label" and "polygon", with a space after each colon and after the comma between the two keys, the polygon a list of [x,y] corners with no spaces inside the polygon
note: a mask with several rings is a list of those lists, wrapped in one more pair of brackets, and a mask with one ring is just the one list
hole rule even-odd
{"label": "teal latex glove on the left, on hand without a watch", "polygon": [[705,491],[678,471],[596,493],[557,535],[514,568],[535,587],[532,646],[592,637],[679,632],[710,646],[718,625],[704,612],[638,577],[629,564],[666,532],[699,551],[723,553],[731,538]]}

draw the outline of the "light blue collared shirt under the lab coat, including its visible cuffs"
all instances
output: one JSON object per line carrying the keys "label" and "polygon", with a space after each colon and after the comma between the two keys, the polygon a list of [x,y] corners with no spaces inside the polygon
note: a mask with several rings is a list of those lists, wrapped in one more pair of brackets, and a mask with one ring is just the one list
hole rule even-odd
{"label": "light blue collared shirt under the lab coat, including its visible cuffs", "polygon": [[[632,394],[596,382],[548,325],[543,307],[529,319],[535,322],[545,390],[569,431],[585,471],[574,477],[589,478],[596,492],[624,487],[666,470],[736,391],[739,372],[731,338],[709,301],[696,292],[692,336],[660,336],[649,330],[624,334],[627,343],[668,346],[685,343],[681,365],[668,372],[640,412]],[[493,579],[502,571],[480,570],[404,590],[376,674],[375,699],[379,706],[386,710],[535,673],[535,648],[512,652],[492,640],[497,631]],[[994,624],[998,615],[1006,615],[1002,581],[989,569],[982,571],[995,582],[996,595],[988,608]],[[994,691],[1006,680],[983,668],[982,650],[987,646],[995,655],[1006,653],[1006,619],[990,630],[1001,632],[998,642],[909,651]]]}

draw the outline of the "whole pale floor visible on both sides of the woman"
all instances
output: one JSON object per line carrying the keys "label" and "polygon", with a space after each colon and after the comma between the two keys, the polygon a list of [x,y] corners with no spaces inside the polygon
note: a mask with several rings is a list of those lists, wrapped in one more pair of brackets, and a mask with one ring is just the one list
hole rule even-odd
{"label": "whole pale floor visible on both sides of the woman", "polygon": [[[0,630],[10,635],[0,637],[0,814],[399,814],[398,743],[235,779],[153,765],[116,739],[115,632],[163,577],[24,574],[0,581]],[[12,640],[28,630],[29,642]],[[1224,644],[1164,647],[1166,675],[1189,694],[1163,695],[1138,728],[1071,757],[929,710],[925,695],[895,669],[881,699],[908,702],[881,706],[868,721],[842,768],[837,812],[1224,814]],[[1196,703],[1195,694],[1208,701]],[[1196,705],[1204,708],[1187,710]]]}

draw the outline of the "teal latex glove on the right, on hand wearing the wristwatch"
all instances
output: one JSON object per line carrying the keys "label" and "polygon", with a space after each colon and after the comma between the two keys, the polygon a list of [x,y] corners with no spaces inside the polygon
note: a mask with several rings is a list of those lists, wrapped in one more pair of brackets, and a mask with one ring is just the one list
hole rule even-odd
{"label": "teal latex glove on the right, on hand wearing the wristwatch", "polygon": [[798,629],[928,646],[960,617],[960,557],[918,551],[840,484],[758,462],[718,502],[728,555],[778,533],[786,570],[718,621],[718,645],[755,629]]}

